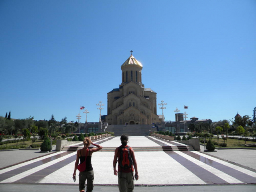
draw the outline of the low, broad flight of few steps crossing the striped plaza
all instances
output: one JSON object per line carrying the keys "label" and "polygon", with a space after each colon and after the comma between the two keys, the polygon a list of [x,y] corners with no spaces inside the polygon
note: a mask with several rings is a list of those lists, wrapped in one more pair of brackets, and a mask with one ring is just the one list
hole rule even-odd
{"label": "low, broad flight of few steps crossing the striped plaza", "polygon": [[[61,151],[75,152],[83,146],[65,146]],[[91,147],[90,147],[91,148]],[[135,152],[156,152],[156,151],[193,151],[191,146],[159,146],[159,147],[132,147]],[[104,147],[100,152],[114,152],[116,147]]]}

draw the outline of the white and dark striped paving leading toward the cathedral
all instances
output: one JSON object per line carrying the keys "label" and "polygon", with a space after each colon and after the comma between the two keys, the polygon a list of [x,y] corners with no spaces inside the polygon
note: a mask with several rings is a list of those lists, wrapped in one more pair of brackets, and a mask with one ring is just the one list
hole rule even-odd
{"label": "white and dark striped paving leading toward the cathedral", "polygon": [[[97,143],[97,142],[95,142]],[[99,141],[103,147],[120,146],[120,137]],[[182,146],[155,137],[130,137],[131,147]],[[136,152],[139,180],[135,184],[255,184],[256,172],[205,153],[195,151]],[[56,152],[0,170],[0,184],[78,184],[74,183],[76,152]],[[92,156],[95,184],[117,184],[113,173],[114,152]]]}

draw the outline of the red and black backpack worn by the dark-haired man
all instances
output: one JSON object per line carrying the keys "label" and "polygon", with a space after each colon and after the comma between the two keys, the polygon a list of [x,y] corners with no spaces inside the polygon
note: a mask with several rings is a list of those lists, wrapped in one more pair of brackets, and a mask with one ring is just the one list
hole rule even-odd
{"label": "red and black backpack worn by the dark-haired man", "polygon": [[121,168],[132,168],[132,157],[130,154],[130,146],[122,147],[120,146],[120,156],[119,156],[119,166]]}

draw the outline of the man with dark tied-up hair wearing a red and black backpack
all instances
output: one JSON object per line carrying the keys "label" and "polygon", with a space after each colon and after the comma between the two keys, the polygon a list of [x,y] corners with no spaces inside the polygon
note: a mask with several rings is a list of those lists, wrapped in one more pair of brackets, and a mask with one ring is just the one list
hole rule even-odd
{"label": "man with dark tied-up hair wearing a red and black backpack", "polygon": [[[116,148],[113,160],[114,174],[118,175],[118,188],[119,192],[133,192],[134,189],[134,176],[138,180],[137,162],[134,155],[134,150],[127,145],[128,136],[122,135],[120,137],[122,145]],[[118,170],[116,164],[118,163]]]}

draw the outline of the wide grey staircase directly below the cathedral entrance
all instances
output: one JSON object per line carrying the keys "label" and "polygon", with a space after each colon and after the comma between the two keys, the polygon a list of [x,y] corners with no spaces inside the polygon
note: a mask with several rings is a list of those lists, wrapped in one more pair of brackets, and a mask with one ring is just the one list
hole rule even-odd
{"label": "wide grey staircase directly below the cathedral entrance", "polygon": [[108,125],[106,131],[114,132],[115,136],[148,136],[151,131],[157,131],[154,125]]}

